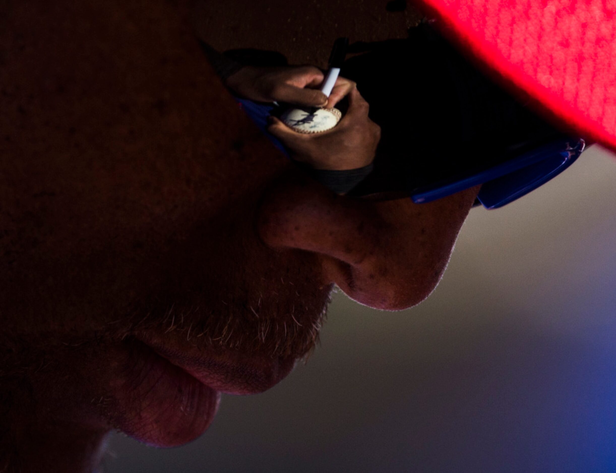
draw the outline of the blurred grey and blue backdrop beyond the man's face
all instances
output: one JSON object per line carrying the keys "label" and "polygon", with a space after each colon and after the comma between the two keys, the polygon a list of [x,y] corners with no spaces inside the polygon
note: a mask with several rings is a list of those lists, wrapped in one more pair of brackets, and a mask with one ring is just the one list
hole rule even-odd
{"label": "blurred grey and blue backdrop beyond the man's face", "polygon": [[591,146],[471,210],[436,291],[402,312],[339,293],[306,366],[224,395],[180,448],[111,437],[107,473],[616,471],[616,156]]}

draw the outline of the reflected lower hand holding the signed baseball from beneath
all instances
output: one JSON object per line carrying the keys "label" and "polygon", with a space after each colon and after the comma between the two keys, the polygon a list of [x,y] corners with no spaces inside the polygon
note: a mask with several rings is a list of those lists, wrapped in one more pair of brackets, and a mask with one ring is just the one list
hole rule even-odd
{"label": "reflected lower hand holding the signed baseball from beneath", "polygon": [[375,158],[381,127],[368,118],[368,102],[357,87],[348,95],[349,110],[331,130],[302,134],[270,117],[268,131],[291,151],[294,160],[315,169],[344,171],[368,166]]}

